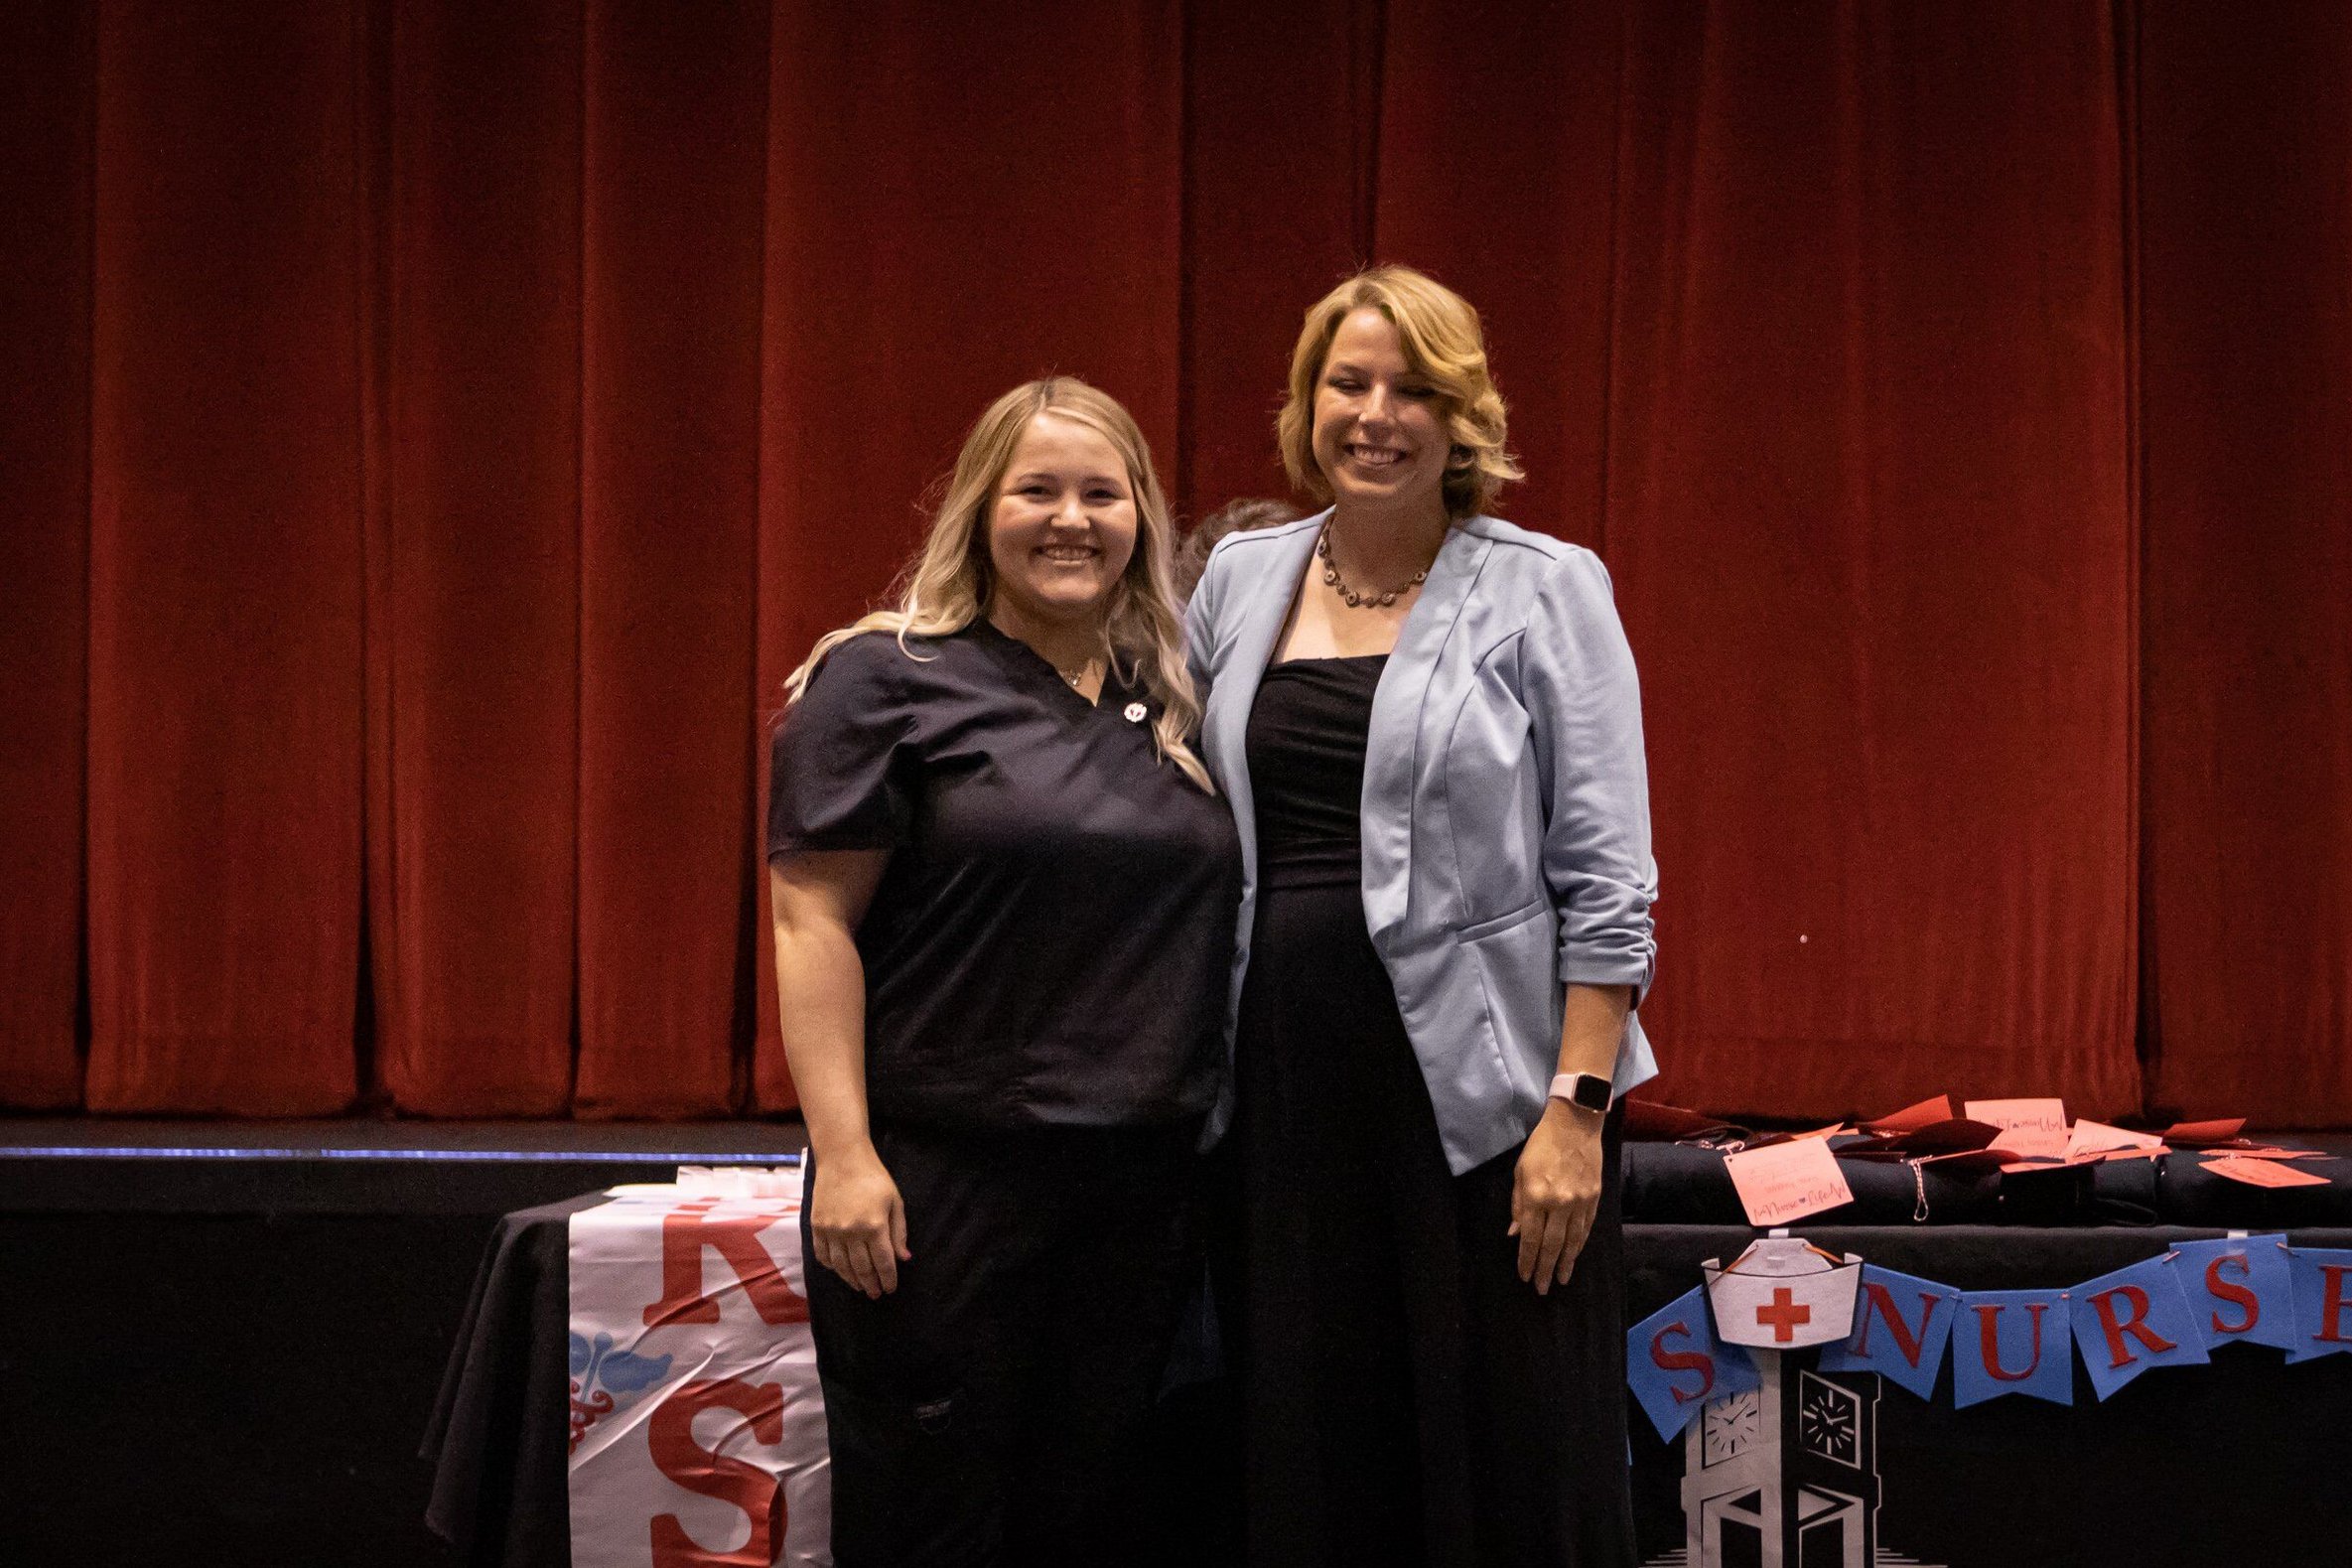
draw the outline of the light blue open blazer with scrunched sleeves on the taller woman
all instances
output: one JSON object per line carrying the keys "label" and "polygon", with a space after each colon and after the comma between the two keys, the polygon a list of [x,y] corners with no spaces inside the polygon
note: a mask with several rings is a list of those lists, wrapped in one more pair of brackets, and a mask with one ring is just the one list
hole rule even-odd
{"label": "light blue open blazer with scrunched sleeves on the taller woman", "polygon": [[[1242,830],[1225,1046],[1258,896],[1244,731],[1329,512],[1216,545],[1185,616],[1202,755]],[[1446,534],[1371,703],[1364,924],[1456,1173],[1517,1147],[1559,1060],[1562,985],[1649,990],[1642,696],[1609,571],[1496,517]],[[1625,1018],[1616,1088],[1658,1072]],[[1232,1088],[1209,1138],[1232,1121]]]}

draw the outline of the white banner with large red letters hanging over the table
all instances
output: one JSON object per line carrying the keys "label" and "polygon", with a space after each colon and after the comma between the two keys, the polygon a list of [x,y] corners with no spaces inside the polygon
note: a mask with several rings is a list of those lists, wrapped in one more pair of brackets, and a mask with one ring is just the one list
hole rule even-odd
{"label": "white banner with large red letters hanging over the table", "polygon": [[574,1568],[830,1568],[800,1175],[572,1215]]}

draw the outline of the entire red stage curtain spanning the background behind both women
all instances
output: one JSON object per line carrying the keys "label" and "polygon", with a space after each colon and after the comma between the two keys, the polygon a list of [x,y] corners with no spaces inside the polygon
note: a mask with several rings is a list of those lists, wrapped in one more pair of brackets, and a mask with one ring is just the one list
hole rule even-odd
{"label": "entire red stage curtain spanning the background behind both women", "polygon": [[2352,21],[2112,5],[9,7],[0,1105],[790,1105],[786,670],[1025,376],[1282,494],[1397,259],[1616,574],[1656,1093],[2352,1121]]}

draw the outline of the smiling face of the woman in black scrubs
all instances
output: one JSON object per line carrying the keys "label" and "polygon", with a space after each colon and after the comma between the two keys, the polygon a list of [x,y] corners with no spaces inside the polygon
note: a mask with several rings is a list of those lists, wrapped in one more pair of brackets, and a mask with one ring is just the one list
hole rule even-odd
{"label": "smiling face of the woman in black scrubs", "polygon": [[1098,621],[1134,552],[1136,494],[1120,449],[1051,409],[1033,418],[988,503],[990,616]]}

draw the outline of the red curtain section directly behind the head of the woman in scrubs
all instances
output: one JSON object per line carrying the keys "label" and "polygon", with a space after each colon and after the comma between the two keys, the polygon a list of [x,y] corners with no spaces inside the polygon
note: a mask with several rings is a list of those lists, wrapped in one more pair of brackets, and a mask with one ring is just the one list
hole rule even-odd
{"label": "red curtain section directly behind the head of the woman in scrubs", "polygon": [[[1084,376],[1176,451],[1174,2],[779,0],[767,186],[760,693],[882,597],[915,496],[1011,386]],[[1073,66],[1084,61],[1082,66]],[[764,780],[764,769],[762,769]],[[764,886],[764,884],[762,884]],[[790,1105],[760,917],[757,1093]]]}

